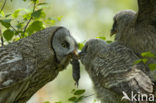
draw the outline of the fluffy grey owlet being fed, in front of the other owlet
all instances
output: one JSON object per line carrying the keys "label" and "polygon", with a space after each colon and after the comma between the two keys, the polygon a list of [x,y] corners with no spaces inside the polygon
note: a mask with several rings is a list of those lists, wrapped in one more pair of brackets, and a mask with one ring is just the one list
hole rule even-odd
{"label": "fluffy grey owlet being fed, in front of the other owlet", "polygon": [[145,65],[134,64],[138,59],[129,48],[117,42],[107,44],[100,39],[87,41],[80,53],[80,60],[102,103],[130,103],[121,101],[123,92],[129,97],[131,92],[153,92]]}

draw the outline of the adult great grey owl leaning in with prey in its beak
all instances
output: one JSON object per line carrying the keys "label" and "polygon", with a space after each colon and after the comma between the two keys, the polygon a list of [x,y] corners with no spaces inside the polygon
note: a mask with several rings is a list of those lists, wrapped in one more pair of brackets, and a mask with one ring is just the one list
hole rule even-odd
{"label": "adult great grey owl leaning in with prey in its beak", "polygon": [[49,27],[0,48],[0,103],[26,103],[66,68],[77,43],[64,27]]}

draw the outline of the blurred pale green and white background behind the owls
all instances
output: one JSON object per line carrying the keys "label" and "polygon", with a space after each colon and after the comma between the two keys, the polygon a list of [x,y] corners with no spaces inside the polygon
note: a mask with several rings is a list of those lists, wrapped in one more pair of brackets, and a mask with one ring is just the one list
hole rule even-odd
{"label": "blurred pale green and white background behind the owls", "polygon": [[[0,0],[2,5],[4,0]],[[44,12],[47,17],[59,17],[55,25],[68,28],[78,42],[90,38],[110,37],[113,16],[120,10],[137,10],[137,0],[39,0],[46,2]],[[16,9],[33,9],[33,5],[23,0],[7,1],[4,12],[12,13]],[[49,25],[50,26],[50,25]],[[66,70],[59,73],[57,78],[40,89],[28,103],[69,103],[72,89],[77,89],[72,79],[72,69],[69,65]],[[92,82],[81,64],[81,79],[78,89],[85,89],[82,103],[100,103],[96,98]],[[94,95],[92,95],[94,94]],[[92,96],[89,96],[92,95]],[[61,101],[61,102],[59,102]]]}

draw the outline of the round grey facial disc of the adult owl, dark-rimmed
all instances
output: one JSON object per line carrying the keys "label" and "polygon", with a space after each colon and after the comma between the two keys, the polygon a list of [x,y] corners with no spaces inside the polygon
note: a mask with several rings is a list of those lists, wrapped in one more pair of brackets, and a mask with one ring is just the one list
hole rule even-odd
{"label": "round grey facial disc of the adult owl, dark-rimmed", "polygon": [[64,27],[60,27],[54,32],[51,44],[60,64],[69,60],[71,56],[76,55],[78,45],[70,35],[70,32]]}

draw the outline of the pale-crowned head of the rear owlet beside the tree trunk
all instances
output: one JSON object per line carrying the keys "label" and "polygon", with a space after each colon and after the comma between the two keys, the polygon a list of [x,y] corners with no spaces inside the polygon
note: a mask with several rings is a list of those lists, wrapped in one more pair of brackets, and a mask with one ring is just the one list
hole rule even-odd
{"label": "pale-crowned head of the rear owlet beside the tree trunk", "polygon": [[[112,25],[112,29],[111,29],[111,36],[113,34],[117,34],[120,35],[121,32],[132,23],[132,21],[134,21],[135,19],[135,12],[132,10],[124,10],[124,11],[120,11],[119,13],[117,13],[113,20],[114,23]],[[116,35],[116,36],[117,36]]]}

